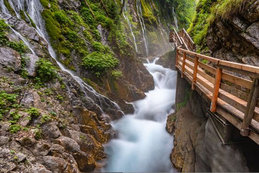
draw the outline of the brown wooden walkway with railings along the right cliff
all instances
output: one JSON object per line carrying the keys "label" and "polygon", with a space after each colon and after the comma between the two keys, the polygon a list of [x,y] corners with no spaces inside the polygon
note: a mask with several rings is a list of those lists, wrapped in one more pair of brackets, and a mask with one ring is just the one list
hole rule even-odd
{"label": "brown wooden walkway with railings along the right cliff", "polygon": [[211,103],[211,112],[259,144],[259,67],[195,53],[195,44],[184,29],[171,31],[170,42],[177,47],[177,70],[191,89]]}

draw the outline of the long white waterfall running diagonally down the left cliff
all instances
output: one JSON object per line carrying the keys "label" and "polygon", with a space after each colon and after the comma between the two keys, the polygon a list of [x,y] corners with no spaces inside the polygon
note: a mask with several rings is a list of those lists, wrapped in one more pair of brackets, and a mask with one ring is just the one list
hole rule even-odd
{"label": "long white waterfall running diagonally down the left cliff", "polygon": [[[26,11],[30,15],[31,19],[37,26],[36,31],[37,31],[38,35],[41,36],[48,43],[49,54],[51,55],[51,57],[53,59],[55,59],[58,66],[60,67],[60,69],[62,71],[67,72],[68,74],[70,74],[71,77],[78,83],[78,85],[80,86],[81,90],[83,91],[84,96],[87,99],[87,101],[90,101],[92,104],[97,106],[103,114],[105,114],[103,111],[103,108],[105,106],[109,106],[109,107],[112,107],[113,109],[120,110],[119,106],[115,102],[112,102],[109,98],[96,92],[92,87],[90,87],[85,82],[83,82],[83,80],[81,78],[76,76],[74,74],[74,72],[67,69],[63,64],[61,64],[58,61],[58,59],[56,57],[56,53],[49,42],[48,35],[47,35],[46,29],[45,29],[44,20],[41,17],[41,11],[43,10],[43,6],[41,5],[39,0],[8,0],[8,1],[9,1],[10,5],[13,7],[13,9],[15,10],[17,17],[20,18],[20,15],[18,15],[20,13],[20,10]],[[8,11],[4,10],[5,8],[6,8],[5,5],[1,3],[2,11],[5,11],[5,13],[7,13],[10,16],[11,14]],[[18,33],[17,31],[15,31],[14,29],[12,29],[12,30],[14,31],[15,34],[17,34],[17,36],[21,40],[24,41],[24,43],[34,53],[33,48],[22,37],[22,35],[20,33]],[[109,103],[111,103],[111,104],[109,104]],[[90,106],[90,105],[88,105],[88,106]]]}

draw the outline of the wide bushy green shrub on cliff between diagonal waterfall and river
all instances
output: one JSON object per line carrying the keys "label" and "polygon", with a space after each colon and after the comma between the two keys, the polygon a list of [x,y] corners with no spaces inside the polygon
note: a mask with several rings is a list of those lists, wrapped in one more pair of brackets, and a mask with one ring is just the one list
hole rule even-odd
{"label": "wide bushy green shrub on cliff between diagonal waterfall and river", "polygon": [[119,62],[118,59],[111,54],[99,51],[89,53],[87,56],[83,57],[82,61],[82,65],[86,69],[95,73],[103,73],[109,68],[114,68]]}

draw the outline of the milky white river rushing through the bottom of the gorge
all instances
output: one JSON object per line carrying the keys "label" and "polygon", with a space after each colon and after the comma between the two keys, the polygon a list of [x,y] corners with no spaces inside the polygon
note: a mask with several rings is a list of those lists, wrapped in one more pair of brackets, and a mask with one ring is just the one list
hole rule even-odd
{"label": "milky white river rushing through the bottom of the gorge", "polygon": [[173,136],[165,130],[167,115],[174,110],[176,71],[153,63],[144,64],[155,88],[133,102],[135,113],[112,123],[118,137],[105,147],[106,172],[174,172],[170,162]]}

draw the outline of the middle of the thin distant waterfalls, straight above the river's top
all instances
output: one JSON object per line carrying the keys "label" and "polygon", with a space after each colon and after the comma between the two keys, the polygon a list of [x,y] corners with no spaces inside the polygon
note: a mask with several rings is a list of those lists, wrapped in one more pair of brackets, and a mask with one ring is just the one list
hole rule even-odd
{"label": "middle of the thin distant waterfalls, straight above the river's top", "polygon": [[142,15],[142,8],[141,8],[140,0],[136,1],[136,6],[137,6],[137,13],[138,13],[138,16],[139,16],[141,28],[142,28],[142,35],[143,35],[143,41],[145,43],[146,55],[148,56],[149,51],[148,51],[147,31],[146,31],[146,25],[145,25],[145,22],[144,22],[144,19],[143,19],[143,15]]}

